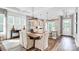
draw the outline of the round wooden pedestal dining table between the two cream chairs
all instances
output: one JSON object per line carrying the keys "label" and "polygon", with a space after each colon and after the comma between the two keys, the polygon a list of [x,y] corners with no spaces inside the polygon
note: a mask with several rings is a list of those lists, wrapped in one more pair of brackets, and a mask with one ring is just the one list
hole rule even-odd
{"label": "round wooden pedestal dining table between the two cream chairs", "polygon": [[31,47],[29,50],[31,49],[36,49],[36,50],[40,50],[38,48],[35,48],[35,40],[40,40],[43,33],[32,33],[32,32],[27,32],[27,35],[30,39],[33,40],[33,47]]}

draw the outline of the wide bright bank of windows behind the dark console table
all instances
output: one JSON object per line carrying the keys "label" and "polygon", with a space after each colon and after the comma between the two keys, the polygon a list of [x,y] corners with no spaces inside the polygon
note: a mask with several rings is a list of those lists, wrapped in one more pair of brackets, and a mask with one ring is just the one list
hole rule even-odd
{"label": "wide bright bank of windows behind the dark console table", "polygon": [[25,24],[26,17],[9,14],[7,19],[7,37],[10,38],[10,33],[13,25],[16,30],[21,30]]}

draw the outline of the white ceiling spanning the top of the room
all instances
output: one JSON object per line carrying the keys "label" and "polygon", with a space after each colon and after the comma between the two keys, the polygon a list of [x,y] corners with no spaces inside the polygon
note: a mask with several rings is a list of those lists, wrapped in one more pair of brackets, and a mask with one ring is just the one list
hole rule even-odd
{"label": "white ceiling spanning the top of the room", "polygon": [[64,15],[65,11],[68,15],[75,12],[75,7],[7,7],[7,9],[34,16],[39,19],[56,18],[60,15]]}

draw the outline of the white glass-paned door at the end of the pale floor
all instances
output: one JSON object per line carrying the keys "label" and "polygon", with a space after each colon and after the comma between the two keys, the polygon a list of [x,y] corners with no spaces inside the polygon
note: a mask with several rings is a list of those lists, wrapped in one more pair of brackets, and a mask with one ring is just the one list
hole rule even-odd
{"label": "white glass-paned door at the end of the pale floor", "polygon": [[72,19],[63,19],[62,20],[62,35],[72,35]]}

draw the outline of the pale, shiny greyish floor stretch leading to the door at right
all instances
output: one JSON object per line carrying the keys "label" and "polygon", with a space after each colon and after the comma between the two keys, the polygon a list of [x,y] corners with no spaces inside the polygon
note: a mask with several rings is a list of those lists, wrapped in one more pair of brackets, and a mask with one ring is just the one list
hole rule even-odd
{"label": "pale, shiny greyish floor stretch leading to the door at right", "polygon": [[75,45],[75,39],[72,37],[62,36],[59,40],[59,44],[57,46],[56,51],[78,51],[79,48]]}

